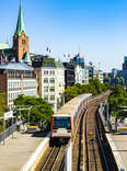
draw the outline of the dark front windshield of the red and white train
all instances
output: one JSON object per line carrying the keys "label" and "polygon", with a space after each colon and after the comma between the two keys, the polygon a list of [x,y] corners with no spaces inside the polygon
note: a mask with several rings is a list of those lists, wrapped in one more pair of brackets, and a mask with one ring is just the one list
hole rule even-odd
{"label": "dark front windshield of the red and white train", "polygon": [[54,128],[58,127],[67,127],[71,128],[70,126],[70,117],[54,117]]}

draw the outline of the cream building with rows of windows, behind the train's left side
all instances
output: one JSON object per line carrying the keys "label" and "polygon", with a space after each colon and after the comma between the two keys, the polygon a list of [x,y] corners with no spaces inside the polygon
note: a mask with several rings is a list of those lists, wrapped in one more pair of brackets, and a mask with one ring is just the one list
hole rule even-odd
{"label": "cream building with rows of windows, behind the train's left side", "polygon": [[64,104],[65,69],[60,61],[45,57],[42,66],[34,68],[38,82],[38,95],[56,112]]}

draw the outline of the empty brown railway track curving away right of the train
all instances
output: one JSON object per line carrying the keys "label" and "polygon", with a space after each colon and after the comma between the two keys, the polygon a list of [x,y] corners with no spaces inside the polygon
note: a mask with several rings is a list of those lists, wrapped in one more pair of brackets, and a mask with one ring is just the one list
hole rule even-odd
{"label": "empty brown railway track curving away right of the train", "polygon": [[[99,139],[100,135],[95,122],[95,112],[99,104],[105,99],[107,99],[107,95],[100,99],[91,99],[84,114],[82,114],[80,118],[77,135],[73,140],[73,171],[103,170],[102,157],[100,156],[100,147],[102,148],[102,145]],[[101,150],[103,150],[103,148]],[[104,151],[101,152],[104,155]]]}

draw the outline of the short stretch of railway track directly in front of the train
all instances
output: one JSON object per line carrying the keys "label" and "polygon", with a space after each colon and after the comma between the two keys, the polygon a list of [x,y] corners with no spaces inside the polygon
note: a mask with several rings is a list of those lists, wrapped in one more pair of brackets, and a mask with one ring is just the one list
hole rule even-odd
{"label": "short stretch of railway track directly in front of the train", "polygon": [[62,171],[66,146],[50,148],[41,171]]}

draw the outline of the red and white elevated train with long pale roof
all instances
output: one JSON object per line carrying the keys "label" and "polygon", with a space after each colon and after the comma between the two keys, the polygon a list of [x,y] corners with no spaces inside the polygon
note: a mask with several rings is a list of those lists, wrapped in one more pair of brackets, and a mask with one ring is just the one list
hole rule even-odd
{"label": "red and white elevated train with long pale roof", "polygon": [[66,103],[57,113],[51,116],[50,122],[50,145],[56,142],[68,142],[73,138],[77,123],[84,112],[92,94],[82,94]]}

